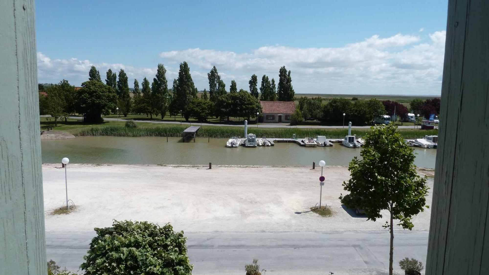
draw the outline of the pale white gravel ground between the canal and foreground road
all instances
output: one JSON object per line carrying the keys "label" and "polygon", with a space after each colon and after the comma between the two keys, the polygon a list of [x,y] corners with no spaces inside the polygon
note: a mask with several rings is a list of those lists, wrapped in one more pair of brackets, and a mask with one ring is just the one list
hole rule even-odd
{"label": "pale white gravel ground between the canal and foreground road", "polygon": [[[311,167],[176,167],[156,165],[68,165],[68,199],[77,209],[52,215],[65,204],[65,172],[43,164],[46,231],[92,231],[112,220],[170,222],[185,232],[332,231],[382,229],[342,208],[346,167],[325,167],[323,204],[333,217],[308,211],[319,202],[319,169]],[[430,170],[420,170],[430,174]],[[433,180],[428,180],[433,187]],[[431,205],[431,193],[427,198]],[[428,229],[431,211],[414,218]]]}

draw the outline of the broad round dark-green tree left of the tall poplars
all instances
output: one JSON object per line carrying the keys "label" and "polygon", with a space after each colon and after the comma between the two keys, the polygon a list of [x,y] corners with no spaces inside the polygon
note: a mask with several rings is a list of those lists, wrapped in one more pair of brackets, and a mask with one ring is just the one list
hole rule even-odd
{"label": "broad round dark-green tree left of the tall poplars", "polygon": [[89,80],[82,83],[77,91],[77,111],[84,115],[85,121],[102,121],[101,115],[109,115],[115,109],[117,94],[114,89],[101,81]]}

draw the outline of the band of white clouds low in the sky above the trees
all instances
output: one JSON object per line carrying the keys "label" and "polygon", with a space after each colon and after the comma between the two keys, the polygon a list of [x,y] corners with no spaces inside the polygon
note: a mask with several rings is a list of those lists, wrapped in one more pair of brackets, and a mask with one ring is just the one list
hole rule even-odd
{"label": "band of white clouds low in the sky above the trees", "polygon": [[[248,90],[251,74],[255,73],[259,79],[267,74],[278,83],[278,69],[285,65],[292,72],[292,84],[297,93],[439,94],[444,51],[445,31],[438,31],[423,36],[396,34],[380,38],[374,35],[342,47],[277,45],[262,46],[244,53],[189,48],[161,52],[159,56],[168,69],[170,86],[173,78],[177,77],[178,63],[187,61],[199,90],[208,89],[207,72],[212,66],[218,68],[227,87],[235,79],[238,89]],[[88,60],[51,60],[38,53],[40,82],[44,79],[58,82],[69,77],[85,81],[91,65]],[[132,77],[152,79],[156,73],[156,66],[93,65],[104,79],[108,68],[124,69],[130,81]]]}

